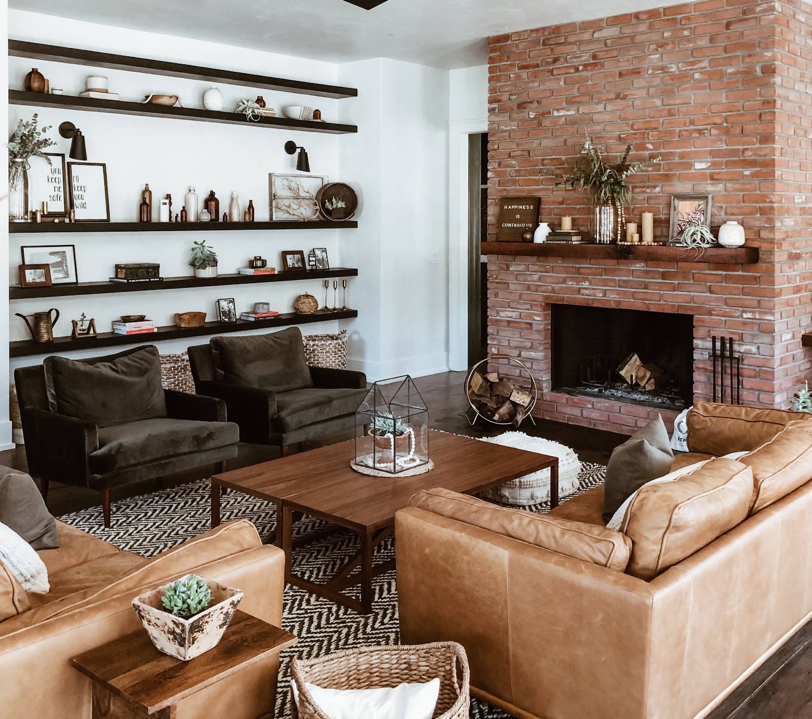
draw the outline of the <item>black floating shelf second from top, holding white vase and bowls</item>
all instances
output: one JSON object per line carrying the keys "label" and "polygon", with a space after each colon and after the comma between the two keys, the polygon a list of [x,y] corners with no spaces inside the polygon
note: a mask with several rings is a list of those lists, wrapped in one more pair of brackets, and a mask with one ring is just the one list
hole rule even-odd
{"label": "black floating shelf second from top, holding white vase and bowls", "polygon": [[9,90],[10,105],[34,105],[36,107],[58,107],[61,110],[86,110],[88,112],[112,112],[127,115],[145,115],[153,118],[176,120],[198,120],[203,123],[227,123],[244,127],[270,127],[275,130],[300,130],[305,132],[326,132],[330,135],[347,135],[357,132],[355,125],[339,123],[319,123],[315,120],[292,120],[289,118],[260,118],[256,123],[247,120],[244,114],[236,112],[215,112],[198,110],[195,107],[167,107],[145,102],[123,100],[96,100],[93,97],[74,95],[47,95],[27,93],[24,90]]}

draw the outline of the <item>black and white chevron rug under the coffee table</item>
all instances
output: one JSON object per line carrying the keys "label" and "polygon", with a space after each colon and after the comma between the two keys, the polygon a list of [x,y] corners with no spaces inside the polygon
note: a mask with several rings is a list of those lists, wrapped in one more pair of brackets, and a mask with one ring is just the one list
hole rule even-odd
{"label": "black and white chevron rug under the coffee table", "polygon": [[[583,463],[581,484],[576,494],[601,484],[605,473],[606,467],[603,465]],[[110,529],[104,528],[101,507],[65,514],[60,519],[110,542],[119,549],[152,557],[209,530],[209,490],[209,480],[199,480],[115,502],[114,526]],[[576,495],[572,495],[574,496]],[[274,530],[276,523],[274,507],[261,500],[230,492],[226,497],[222,497],[221,506],[223,522],[229,519],[250,519],[263,537],[270,536]],[[526,509],[545,513],[549,511],[550,506],[545,502]],[[296,523],[294,533],[309,534],[323,526],[321,520],[306,517]],[[352,532],[337,532],[296,550],[294,566],[300,575],[321,582],[335,574],[356,549],[356,535]],[[394,555],[394,540],[389,537],[375,550],[374,560],[379,562],[393,558]],[[356,596],[360,598],[357,588]],[[395,571],[387,572],[375,579],[373,613],[368,616],[356,614],[331,601],[313,596],[303,589],[287,585],[282,623],[287,631],[299,637],[296,646],[283,652],[279,667],[276,716],[279,719],[290,719],[288,665],[291,657],[309,659],[339,649],[367,644],[397,644]],[[508,714],[477,700],[472,700],[470,716],[476,719],[509,717]]]}

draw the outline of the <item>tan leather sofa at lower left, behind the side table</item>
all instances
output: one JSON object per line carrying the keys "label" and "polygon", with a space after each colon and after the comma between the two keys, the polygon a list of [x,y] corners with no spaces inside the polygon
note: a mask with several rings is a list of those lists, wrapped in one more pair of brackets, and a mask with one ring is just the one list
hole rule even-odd
{"label": "tan leather sofa at lower left, behind the side table", "polygon": [[[243,590],[240,609],[279,626],[284,554],[262,545],[248,521],[236,520],[151,559],[58,523],[59,549],[39,552],[50,592],[20,594],[20,612],[0,622],[0,717],[90,719],[91,685],[68,660],[111,639],[143,631],[133,596],[194,572]],[[10,606],[0,576],[0,601]],[[13,609],[12,609],[13,611]],[[182,700],[176,719],[272,716],[278,657],[253,665]]]}

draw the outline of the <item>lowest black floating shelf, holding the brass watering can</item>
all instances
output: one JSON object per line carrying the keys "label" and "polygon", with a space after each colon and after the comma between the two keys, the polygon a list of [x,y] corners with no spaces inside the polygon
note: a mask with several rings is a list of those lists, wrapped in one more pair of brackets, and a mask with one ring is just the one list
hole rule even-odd
{"label": "lowest black floating shelf, holding the brass watering can", "polygon": [[231,332],[244,332],[248,329],[266,329],[270,327],[285,327],[287,325],[309,325],[312,322],[326,322],[330,320],[351,320],[358,316],[354,309],[339,310],[339,312],[313,312],[309,315],[300,315],[296,312],[286,312],[267,320],[251,322],[237,320],[234,323],[206,322],[201,327],[158,327],[158,332],[149,334],[115,334],[104,332],[95,337],[58,337],[53,342],[34,342],[32,339],[9,342],[11,357],[28,357],[31,355],[59,355],[74,350],[94,350],[97,347],[118,347],[119,345],[148,345],[165,339],[184,339],[204,337],[209,334],[227,334]]}

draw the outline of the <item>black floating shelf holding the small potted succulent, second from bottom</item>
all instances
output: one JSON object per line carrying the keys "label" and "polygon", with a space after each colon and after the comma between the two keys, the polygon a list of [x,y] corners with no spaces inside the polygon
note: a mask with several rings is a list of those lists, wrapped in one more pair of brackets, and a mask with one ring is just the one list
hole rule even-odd
{"label": "black floating shelf holding the small potted succulent, second from bottom", "polygon": [[50,287],[9,287],[9,299],[32,297],[71,297],[76,295],[109,295],[116,292],[146,292],[184,290],[187,288],[219,287],[224,285],[251,285],[257,282],[298,282],[326,278],[357,277],[358,270],[351,267],[309,269],[306,272],[278,272],[276,274],[220,274],[214,278],[168,277],[163,282],[78,282],[76,285]]}

